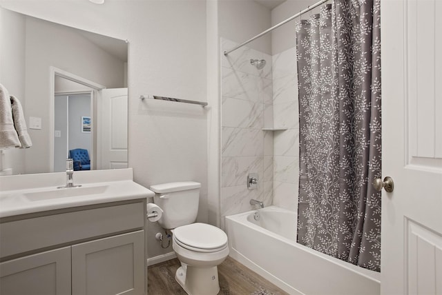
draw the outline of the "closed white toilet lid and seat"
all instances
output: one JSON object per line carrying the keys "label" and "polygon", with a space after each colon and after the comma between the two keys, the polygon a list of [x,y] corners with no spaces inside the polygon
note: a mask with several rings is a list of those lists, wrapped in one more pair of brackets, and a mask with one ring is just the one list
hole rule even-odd
{"label": "closed white toilet lid and seat", "polygon": [[195,252],[218,252],[227,247],[227,234],[206,223],[191,223],[175,228],[173,240],[177,245]]}

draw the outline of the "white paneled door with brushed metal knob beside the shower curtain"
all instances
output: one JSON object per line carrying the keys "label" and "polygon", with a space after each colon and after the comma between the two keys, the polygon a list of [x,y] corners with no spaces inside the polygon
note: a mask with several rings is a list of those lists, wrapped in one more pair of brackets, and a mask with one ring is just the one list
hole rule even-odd
{"label": "white paneled door with brushed metal knob beside the shower curtain", "polygon": [[442,294],[441,0],[383,0],[381,294]]}

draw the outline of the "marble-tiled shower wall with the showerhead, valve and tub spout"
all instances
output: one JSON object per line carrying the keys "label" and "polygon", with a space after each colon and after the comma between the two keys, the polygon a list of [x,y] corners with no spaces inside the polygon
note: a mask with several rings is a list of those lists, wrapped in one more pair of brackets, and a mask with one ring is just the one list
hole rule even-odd
{"label": "marble-tiled shower wall with the showerhead, valve and tub spout", "polygon": [[[222,51],[237,43],[222,40]],[[250,59],[265,59],[258,70]],[[271,205],[273,194],[273,88],[271,55],[246,46],[222,56],[221,216],[251,210],[250,199]],[[258,189],[247,175],[258,173]]]}

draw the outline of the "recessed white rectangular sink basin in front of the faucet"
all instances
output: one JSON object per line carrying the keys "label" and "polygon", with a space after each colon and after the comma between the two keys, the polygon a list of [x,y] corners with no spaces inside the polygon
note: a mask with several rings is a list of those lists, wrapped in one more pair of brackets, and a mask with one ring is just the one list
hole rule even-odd
{"label": "recessed white rectangular sink basin in front of the faucet", "polygon": [[91,187],[66,187],[55,190],[46,190],[42,192],[24,193],[29,201],[43,201],[49,199],[68,198],[72,196],[84,196],[91,194],[103,194],[108,189],[108,185],[99,185]]}

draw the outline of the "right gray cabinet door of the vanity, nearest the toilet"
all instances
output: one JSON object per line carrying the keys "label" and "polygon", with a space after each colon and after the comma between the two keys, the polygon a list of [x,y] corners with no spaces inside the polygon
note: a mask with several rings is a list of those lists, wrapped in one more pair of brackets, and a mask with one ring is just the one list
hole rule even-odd
{"label": "right gray cabinet door of the vanity, nearest the toilet", "polygon": [[144,294],[143,230],[72,246],[72,294]]}

